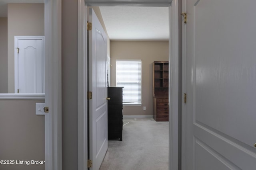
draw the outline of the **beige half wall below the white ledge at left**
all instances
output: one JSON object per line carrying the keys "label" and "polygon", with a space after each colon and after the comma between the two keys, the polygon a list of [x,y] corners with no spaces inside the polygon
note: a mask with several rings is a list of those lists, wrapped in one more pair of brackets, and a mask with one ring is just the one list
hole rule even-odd
{"label": "beige half wall below the white ledge at left", "polygon": [[[0,160],[45,160],[44,100],[0,100]],[[45,165],[1,165],[0,170],[44,170]]]}

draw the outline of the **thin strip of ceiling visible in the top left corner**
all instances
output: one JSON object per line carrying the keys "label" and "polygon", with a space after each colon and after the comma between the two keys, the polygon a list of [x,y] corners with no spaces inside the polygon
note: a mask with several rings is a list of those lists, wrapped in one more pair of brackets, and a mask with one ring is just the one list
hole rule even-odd
{"label": "thin strip of ceiling visible in the top left corner", "polygon": [[44,3],[44,0],[0,0],[0,17],[7,17],[8,3]]}

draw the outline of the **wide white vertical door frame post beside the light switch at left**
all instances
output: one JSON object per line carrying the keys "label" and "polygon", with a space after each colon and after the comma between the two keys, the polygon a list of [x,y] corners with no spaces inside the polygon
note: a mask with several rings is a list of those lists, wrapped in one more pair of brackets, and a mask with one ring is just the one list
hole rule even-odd
{"label": "wide white vertical door frame post beside the light switch at left", "polygon": [[45,169],[62,170],[61,0],[44,2]]}

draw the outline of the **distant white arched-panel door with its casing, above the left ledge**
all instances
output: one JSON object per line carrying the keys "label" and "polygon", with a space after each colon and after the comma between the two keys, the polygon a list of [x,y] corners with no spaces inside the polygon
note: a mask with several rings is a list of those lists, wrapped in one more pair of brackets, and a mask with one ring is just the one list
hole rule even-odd
{"label": "distant white arched-panel door with its casing, above the left ledge", "polygon": [[43,40],[43,37],[15,37],[16,93],[44,93]]}

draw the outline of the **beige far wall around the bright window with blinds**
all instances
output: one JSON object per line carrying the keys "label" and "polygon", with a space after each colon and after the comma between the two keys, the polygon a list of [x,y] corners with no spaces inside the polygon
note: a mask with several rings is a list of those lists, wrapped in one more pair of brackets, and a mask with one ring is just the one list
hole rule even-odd
{"label": "beige far wall around the bright window with blinds", "polygon": [[116,86],[116,59],[141,59],[142,106],[124,106],[124,115],[153,115],[152,63],[169,60],[168,41],[110,41],[110,59],[112,86]]}

